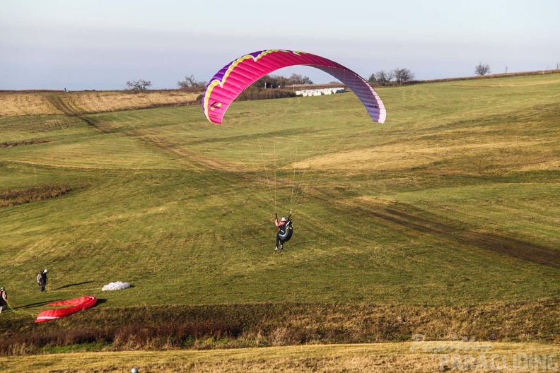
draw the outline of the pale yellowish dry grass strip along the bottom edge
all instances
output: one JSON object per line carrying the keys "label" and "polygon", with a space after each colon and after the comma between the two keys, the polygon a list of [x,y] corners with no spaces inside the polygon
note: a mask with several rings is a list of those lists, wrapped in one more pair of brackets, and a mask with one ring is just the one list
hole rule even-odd
{"label": "pale yellowish dry grass strip along the bottom edge", "polygon": [[[0,357],[4,372],[555,372],[559,347],[491,343],[438,352],[422,343],[305,345],[235,350],[67,353]],[[474,361],[472,358],[474,358]],[[530,360],[529,357],[539,358]],[[544,357],[544,362],[542,360]],[[522,361],[520,358],[525,358]],[[470,364],[472,362],[472,365]],[[526,364],[525,364],[526,363]],[[467,364],[467,365],[465,365]],[[529,367],[530,365],[530,367]],[[534,369],[537,367],[537,369]]]}

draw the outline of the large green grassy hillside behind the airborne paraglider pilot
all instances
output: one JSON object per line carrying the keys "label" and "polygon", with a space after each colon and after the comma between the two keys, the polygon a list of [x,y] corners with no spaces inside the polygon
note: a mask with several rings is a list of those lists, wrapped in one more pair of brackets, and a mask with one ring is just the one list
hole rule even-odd
{"label": "large green grassy hillside behind the airborne paraglider pilot", "polygon": [[[82,295],[102,300],[92,316],[264,303],[511,315],[542,302],[516,320],[556,315],[560,74],[378,93],[385,124],[351,93],[237,102],[223,126],[199,106],[0,117],[8,334],[64,328],[22,323]],[[291,210],[294,237],[275,254],[274,211]],[[100,291],[116,280],[134,287]],[[544,322],[554,341],[558,321]]]}

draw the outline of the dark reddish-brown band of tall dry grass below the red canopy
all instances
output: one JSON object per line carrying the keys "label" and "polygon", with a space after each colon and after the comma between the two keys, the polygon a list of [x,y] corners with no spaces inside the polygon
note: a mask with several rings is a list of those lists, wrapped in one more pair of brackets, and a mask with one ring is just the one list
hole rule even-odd
{"label": "dark reddish-brown band of tall dry grass below the red canopy", "polygon": [[[100,308],[31,328],[0,318],[0,355],[101,343],[109,350],[215,350],[411,341],[558,343],[559,300],[473,307],[238,304]],[[25,309],[25,308],[24,308]],[[17,309],[20,311],[21,309]],[[4,316],[4,315],[3,315]]]}

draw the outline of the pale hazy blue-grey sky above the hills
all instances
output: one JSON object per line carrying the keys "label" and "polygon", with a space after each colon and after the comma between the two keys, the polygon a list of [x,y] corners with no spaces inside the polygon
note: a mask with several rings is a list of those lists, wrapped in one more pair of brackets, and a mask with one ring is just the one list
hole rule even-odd
{"label": "pale hazy blue-grey sky above the hills", "polygon": [[[0,0],[0,90],[177,88],[259,49],[319,54],[365,78],[555,69],[559,16],[556,0]],[[276,74],[293,72],[334,80]]]}

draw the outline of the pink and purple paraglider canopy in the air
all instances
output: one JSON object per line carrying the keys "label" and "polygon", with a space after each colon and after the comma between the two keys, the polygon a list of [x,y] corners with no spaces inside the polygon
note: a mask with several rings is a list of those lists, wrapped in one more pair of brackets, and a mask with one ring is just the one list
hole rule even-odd
{"label": "pink and purple paraglider canopy in the air", "polygon": [[385,105],[366,79],[316,54],[284,49],[252,52],[223,66],[206,86],[202,97],[204,116],[210,122],[221,124],[229,105],[245,88],[267,73],[293,65],[313,66],[334,76],[358,96],[374,122],[385,122]]}

